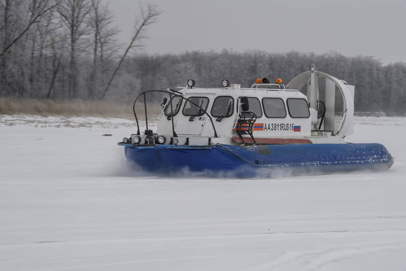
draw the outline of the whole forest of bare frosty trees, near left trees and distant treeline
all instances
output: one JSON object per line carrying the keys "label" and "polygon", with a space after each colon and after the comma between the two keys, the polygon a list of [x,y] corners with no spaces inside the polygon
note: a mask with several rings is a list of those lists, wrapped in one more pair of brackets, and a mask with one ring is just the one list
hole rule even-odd
{"label": "whole forest of bare frosty trees, near left trees and distant treeline", "polygon": [[406,112],[404,62],[383,65],[336,52],[140,53],[159,13],[153,5],[140,7],[134,36],[120,44],[114,15],[101,0],[0,0],[0,98],[126,103],[141,91],[175,89],[188,79],[196,87],[219,87],[222,79],[250,87],[263,77],[288,83],[314,63],[355,85],[355,111]]}

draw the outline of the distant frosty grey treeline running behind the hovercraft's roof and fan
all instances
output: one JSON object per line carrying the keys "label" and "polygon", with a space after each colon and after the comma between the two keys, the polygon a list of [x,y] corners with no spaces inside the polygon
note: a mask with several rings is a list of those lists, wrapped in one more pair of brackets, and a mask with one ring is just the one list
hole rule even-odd
{"label": "distant frosty grey treeline running behind the hovercraft's roof and fan", "polygon": [[404,113],[406,103],[406,63],[383,65],[370,56],[347,57],[331,52],[271,53],[264,51],[186,52],[183,54],[133,57],[126,72],[139,80],[139,88],[165,89],[186,85],[189,78],[197,87],[220,87],[221,79],[250,87],[256,78],[288,83],[310,70],[328,73],[355,85],[355,111]]}

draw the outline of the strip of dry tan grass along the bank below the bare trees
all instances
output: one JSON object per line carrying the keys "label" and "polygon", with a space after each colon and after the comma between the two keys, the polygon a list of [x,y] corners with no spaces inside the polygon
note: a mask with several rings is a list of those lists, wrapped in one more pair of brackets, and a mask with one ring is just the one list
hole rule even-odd
{"label": "strip of dry tan grass along the bank below the bare trees", "polygon": [[[158,115],[159,105],[147,107],[148,115]],[[144,115],[144,107],[136,106],[137,114]],[[27,114],[39,116],[92,116],[109,118],[132,118],[131,104],[85,101],[16,100],[0,98],[0,115]],[[140,117],[141,117],[140,116]]]}

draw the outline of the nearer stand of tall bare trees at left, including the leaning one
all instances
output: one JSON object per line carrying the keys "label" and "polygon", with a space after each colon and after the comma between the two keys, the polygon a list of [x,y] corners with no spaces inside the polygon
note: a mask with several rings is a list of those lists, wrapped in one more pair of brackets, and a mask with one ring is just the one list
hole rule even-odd
{"label": "nearer stand of tall bare trees at left, including the leaning one", "polygon": [[123,89],[111,83],[161,11],[134,13],[134,35],[120,44],[102,0],[0,0],[0,97],[100,100]]}

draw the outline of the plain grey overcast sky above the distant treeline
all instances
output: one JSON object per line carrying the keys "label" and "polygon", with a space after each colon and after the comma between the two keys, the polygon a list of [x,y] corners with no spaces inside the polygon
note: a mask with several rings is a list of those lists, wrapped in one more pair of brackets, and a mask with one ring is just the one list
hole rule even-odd
{"label": "plain grey overcast sky above the distant treeline", "polygon": [[[137,0],[104,0],[128,42]],[[145,2],[145,1],[144,1]],[[151,0],[163,13],[147,53],[250,49],[368,55],[406,62],[406,0]]]}

